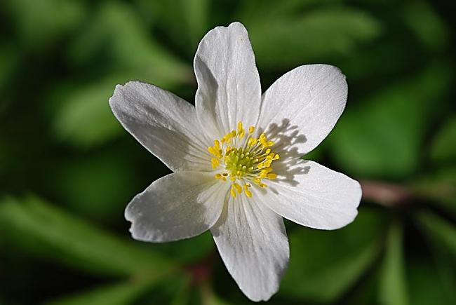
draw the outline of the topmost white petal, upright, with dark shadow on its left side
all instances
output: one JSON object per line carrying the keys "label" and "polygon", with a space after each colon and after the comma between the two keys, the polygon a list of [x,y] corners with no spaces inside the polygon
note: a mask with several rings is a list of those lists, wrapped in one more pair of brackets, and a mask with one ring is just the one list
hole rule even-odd
{"label": "topmost white petal, upright, with dark shadow on its left side", "polygon": [[261,86],[246,28],[239,22],[215,27],[196,50],[194,69],[198,90],[196,111],[203,126],[220,137],[255,125],[260,113]]}

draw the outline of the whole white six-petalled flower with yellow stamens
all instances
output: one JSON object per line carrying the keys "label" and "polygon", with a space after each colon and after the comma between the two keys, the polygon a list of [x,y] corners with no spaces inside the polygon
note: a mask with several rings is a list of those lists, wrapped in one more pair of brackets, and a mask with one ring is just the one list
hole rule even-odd
{"label": "whole white six-petalled flower with yellow stamens", "polygon": [[358,182],[300,158],[342,114],[345,76],[330,65],[305,65],[262,95],[239,22],[204,36],[194,69],[196,107],[138,81],[116,86],[109,99],[122,126],[173,170],[135,196],[125,217],[133,238],[149,242],[210,230],[243,293],[267,300],[288,265],[282,217],[328,230],[356,217]]}

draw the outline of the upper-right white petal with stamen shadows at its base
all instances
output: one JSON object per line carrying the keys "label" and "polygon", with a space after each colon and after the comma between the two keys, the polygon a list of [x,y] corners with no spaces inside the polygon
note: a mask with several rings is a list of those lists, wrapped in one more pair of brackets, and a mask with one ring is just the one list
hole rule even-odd
{"label": "upper-right white petal with stamen shadows at its base", "polygon": [[[347,82],[330,65],[297,67],[264,93],[258,126],[283,150],[307,154],[330,133],[344,111]],[[277,146],[274,146],[277,147]]]}

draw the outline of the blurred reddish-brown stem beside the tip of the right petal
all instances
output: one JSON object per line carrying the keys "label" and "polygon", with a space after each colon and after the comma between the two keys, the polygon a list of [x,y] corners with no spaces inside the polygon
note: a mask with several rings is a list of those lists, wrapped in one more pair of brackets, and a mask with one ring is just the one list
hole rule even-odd
{"label": "blurred reddish-brown stem beside the tip of the right petal", "polygon": [[406,203],[412,198],[412,192],[398,184],[361,180],[363,199],[375,201],[381,205],[393,206]]}

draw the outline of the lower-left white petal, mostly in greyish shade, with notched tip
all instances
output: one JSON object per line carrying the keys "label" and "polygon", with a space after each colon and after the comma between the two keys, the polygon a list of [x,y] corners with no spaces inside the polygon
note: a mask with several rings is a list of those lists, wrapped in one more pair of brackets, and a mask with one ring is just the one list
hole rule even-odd
{"label": "lower-left white petal, mostly in greyish shade, with notched tip", "polygon": [[203,233],[220,217],[227,185],[212,174],[186,171],[154,181],[125,210],[133,238],[164,242]]}

